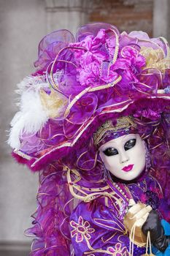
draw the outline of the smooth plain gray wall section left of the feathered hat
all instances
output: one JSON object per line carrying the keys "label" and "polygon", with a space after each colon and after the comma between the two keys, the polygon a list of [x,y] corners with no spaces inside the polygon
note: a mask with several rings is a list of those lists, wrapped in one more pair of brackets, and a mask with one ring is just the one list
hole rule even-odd
{"label": "smooth plain gray wall section left of the feathered hat", "polygon": [[37,174],[12,159],[5,141],[17,111],[16,84],[33,71],[45,28],[43,1],[0,1],[0,241],[28,240],[23,231],[31,225],[30,216],[36,209]]}

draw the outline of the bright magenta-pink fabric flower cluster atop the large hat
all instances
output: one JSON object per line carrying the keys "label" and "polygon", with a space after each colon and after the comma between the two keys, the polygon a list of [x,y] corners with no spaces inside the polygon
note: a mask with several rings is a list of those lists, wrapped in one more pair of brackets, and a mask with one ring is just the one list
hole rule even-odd
{"label": "bright magenta-pink fabric flower cluster atop the large hat", "polygon": [[70,46],[74,48],[77,80],[81,86],[112,83],[121,72],[126,80],[138,82],[136,74],[146,64],[144,56],[131,46],[119,49],[118,58],[112,63],[116,48],[115,34],[107,34],[104,29],[98,31],[96,37],[87,36],[82,42],[71,43]]}

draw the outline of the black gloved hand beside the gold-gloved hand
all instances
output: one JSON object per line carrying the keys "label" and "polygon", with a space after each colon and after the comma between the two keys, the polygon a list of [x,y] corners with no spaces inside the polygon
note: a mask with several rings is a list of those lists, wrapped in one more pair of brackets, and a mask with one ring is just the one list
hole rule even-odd
{"label": "black gloved hand beside the gold-gloved hand", "polygon": [[153,246],[158,248],[159,251],[164,252],[169,246],[170,236],[164,235],[164,230],[156,211],[150,211],[146,222],[144,222],[142,226],[142,231],[145,236],[147,236],[147,232],[150,231],[150,240]]}

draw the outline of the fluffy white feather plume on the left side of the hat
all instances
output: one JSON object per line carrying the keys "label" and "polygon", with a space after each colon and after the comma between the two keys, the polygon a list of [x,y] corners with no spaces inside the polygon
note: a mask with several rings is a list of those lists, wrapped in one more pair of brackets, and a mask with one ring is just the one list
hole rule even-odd
{"label": "fluffy white feather plume on the left side of the hat", "polygon": [[47,88],[43,77],[28,77],[18,84],[18,94],[21,94],[18,106],[20,111],[11,121],[8,143],[12,148],[20,148],[20,135],[23,132],[35,133],[48,120],[47,112],[42,106],[39,89]]}

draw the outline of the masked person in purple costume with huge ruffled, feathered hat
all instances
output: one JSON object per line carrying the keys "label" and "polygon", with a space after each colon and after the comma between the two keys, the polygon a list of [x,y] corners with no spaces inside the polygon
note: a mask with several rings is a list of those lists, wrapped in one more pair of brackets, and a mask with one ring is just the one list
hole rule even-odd
{"label": "masked person in purple costume with huge ruffled, feathered hat", "polygon": [[169,255],[166,39],[105,23],[55,31],[35,67],[9,136],[39,170],[31,255]]}

